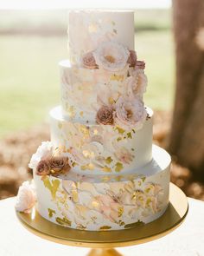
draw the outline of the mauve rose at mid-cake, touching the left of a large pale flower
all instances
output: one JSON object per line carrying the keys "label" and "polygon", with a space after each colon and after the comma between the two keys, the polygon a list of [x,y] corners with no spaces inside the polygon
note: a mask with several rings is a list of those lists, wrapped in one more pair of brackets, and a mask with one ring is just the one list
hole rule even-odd
{"label": "mauve rose at mid-cake, touching the left of a large pale flower", "polygon": [[102,124],[113,124],[113,108],[108,106],[99,108],[96,121]]}

